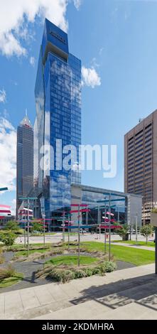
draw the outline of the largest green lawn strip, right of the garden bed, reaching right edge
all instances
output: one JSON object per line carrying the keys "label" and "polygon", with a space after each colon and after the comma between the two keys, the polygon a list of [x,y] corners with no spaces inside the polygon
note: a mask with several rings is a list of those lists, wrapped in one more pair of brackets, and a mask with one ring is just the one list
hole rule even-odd
{"label": "largest green lawn strip, right of the garden bed, reaching right edge", "polygon": [[[104,243],[102,242],[82,242],[84,246],[86,245],[87,251],[96,250],[98,252],[104,252]],[[107,250],[109,249],[109,244],[107,244]],[[112,254],[115,260],[130,262],[136,266],[141,266],[143,264],[151,264],[155,261],[155,252],[136,249],[124,246],[111,245]]]}

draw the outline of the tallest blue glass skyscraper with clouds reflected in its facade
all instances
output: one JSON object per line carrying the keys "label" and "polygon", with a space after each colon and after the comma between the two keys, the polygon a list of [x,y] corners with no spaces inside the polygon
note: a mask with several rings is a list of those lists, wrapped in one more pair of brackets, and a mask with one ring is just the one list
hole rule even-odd
{"label": "tallest blue glass skyscraper with clouds reflected in its facade", "polygon": [[70,186],[81,183],[81,61],[69,53],[67,33],[47,19],[35,97],[34,179],[41,189],[41,212],[49,218],[70,208]]}

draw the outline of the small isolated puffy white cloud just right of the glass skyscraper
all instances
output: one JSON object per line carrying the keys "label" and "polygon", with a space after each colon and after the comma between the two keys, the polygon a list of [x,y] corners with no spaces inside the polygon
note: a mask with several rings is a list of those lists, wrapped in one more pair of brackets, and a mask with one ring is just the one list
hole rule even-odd
{"label": "small isolated puffy white cloud just right of the glass skyscraper", "polygon": [[94,68],[82,67],[82,85],[94,88],[101,85],[101,78]]}

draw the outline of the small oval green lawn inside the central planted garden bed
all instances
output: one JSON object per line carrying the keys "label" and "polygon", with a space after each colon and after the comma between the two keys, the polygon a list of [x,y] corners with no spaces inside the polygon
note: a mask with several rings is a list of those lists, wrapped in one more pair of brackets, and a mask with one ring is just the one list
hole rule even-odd
{"label": "small oval green lawn inside the central planted garden bed", "polygon": [[[80,256],[80,264],[93,264],[99,260],[97,257],[86,257],[81,255]],[[55,266],[60,266],[60,264],[67,264],[67,265],[77,265],[78,257],[77,255],[67,255],[67,256],[59,256],[50,259],[49,261],[45,262],[46,264],[54,264]]]}

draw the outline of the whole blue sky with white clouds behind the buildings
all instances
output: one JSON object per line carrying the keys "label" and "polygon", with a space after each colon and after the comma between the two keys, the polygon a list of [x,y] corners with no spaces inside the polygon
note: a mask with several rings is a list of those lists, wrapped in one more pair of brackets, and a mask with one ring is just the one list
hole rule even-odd
{"label": "whole blue sky with white clouds behind the buildings", "polygon": [[[34,86],[45,16],[82,60],[82,144],[117,145],[117,175],[82,183],[124,190],[124,134],[157,109],[157,1],[0,0],[0,203],[16,204],[16,128],[36,117]],[[7,19],[6,19],[7,17]]]}

